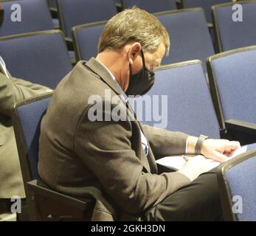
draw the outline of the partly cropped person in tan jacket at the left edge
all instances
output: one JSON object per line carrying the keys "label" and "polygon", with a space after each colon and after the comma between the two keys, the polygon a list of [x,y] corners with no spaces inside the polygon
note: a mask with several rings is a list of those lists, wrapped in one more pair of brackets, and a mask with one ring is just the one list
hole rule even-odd
{"label": "partly cropped person in tan jacket at the left edge", "polygon": [[[11,109],[18,101],[48,91],[52,90],[26,80],[10,77],[4,60],[0,56],[0,198],[7,205],[11,204],[10,198],[14,195],[25,198],[18,150],[10,117]],[[4,206],[0,208],[4,209]]]}

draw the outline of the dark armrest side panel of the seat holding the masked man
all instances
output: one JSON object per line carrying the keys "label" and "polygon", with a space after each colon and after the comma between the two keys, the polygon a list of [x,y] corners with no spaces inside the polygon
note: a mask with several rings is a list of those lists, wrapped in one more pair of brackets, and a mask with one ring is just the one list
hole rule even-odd
{"label": "dark armrest side panel of the seat holding the masked man", "polygon": [[[94,189],[86,198],[76,198],[52,190],[40,180],[27,182],[30,221],[90,221],[95,204]],[[87,198],[88,197],[88,198]]]}

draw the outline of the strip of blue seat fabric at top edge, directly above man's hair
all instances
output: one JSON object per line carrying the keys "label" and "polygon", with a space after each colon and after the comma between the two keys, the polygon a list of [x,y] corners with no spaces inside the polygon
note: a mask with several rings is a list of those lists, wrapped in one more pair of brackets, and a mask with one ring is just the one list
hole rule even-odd
{"label": "strip of blue seat fabric at top edge, directly above man's hair", "polygon": [[148,11],[149,13],[157,13],[165,10],[176,9],[175,0],[124,0],[123,3],[125,8],[131,8],[136,6]]}

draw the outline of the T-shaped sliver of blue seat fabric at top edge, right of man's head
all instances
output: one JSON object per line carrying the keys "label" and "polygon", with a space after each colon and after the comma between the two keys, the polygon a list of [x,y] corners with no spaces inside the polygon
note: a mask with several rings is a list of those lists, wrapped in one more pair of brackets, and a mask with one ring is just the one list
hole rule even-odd
{"label": "T-shaped sliver of blue seat fabric at top edge, right of man's head", "polygon": [[212,5],[231,2],[231,0],[182,0],[184,8],[202,7],[207,17],[207,22],[212,23]]}

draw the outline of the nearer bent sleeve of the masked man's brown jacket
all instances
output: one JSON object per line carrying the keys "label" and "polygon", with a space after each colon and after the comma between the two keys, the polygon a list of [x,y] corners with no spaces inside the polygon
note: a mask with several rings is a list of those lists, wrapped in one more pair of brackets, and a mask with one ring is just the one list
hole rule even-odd
{"label": "nearer bent sleeve of the masked man's brown jacket", "polygon": [[[103,111],[103,120],[110,115]],[[91,122],[88,117],[86,111],[77,125],[75,153],[124,212],[139,215],[190,182],[177,172],[156,175],[144,171],[132,148],[131,121]]]}

